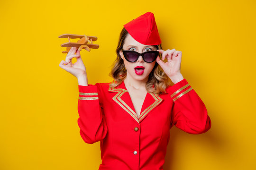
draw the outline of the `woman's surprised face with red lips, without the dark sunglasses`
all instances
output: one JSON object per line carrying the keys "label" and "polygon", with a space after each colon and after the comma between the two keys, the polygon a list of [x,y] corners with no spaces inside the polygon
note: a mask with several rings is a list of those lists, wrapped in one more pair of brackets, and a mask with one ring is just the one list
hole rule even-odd
{"label": "woman's surprised face with red lips, without the dark sunglasses", "polygon": [[[146,51],[156,51],[156,48],[152,45],[144,45],[137,42],[130,34],[127,35],[124,41],[123,50],[137,51],[143,53]],[[124,58],[123,52],[119,51],[121,58],[124,60],[124,65],[127,70],[127,76],[138,80],[146,81],[152,69],[155,66],[155,62],[147,63],[143,60],[142,56],[139,56],[136,62],[129,62]],[[140,67],[140,68],[138,68]]]}

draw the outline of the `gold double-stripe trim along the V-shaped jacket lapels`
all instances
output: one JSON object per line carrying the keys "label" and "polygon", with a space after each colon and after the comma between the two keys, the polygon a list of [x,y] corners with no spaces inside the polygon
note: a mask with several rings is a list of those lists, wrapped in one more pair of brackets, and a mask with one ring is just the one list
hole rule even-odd
{"label": "gold double-stripe trim along the V-shaped jacket lapels", "polygon": [[[132,110],[128,104],[121,99],[121,96],[128,92],[125,89],[122,88],[109,88],[110,92],[118,92],[112,99],[119,104],[120,107],[122,107],[125,111],[127,111],[138,123],[149,113],[149,111],[153,110],[160,102],[162,102],[162,98],[158,97],[154,93],[149,93],[154,99],[155,102],[152,103],[150,106],[148,106],[140,115],[139,119],[137,118],[137,114],[134,110]],[[117,100],[118,99],[118,100]],[[146,98],[145,98],[146,99]]]}

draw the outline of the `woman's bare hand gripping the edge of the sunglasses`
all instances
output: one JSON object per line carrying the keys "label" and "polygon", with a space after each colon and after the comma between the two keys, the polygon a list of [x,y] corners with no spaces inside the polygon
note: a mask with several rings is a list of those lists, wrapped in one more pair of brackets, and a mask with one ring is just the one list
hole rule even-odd
{"label": "woman's bare hand gripping the edge of the sunglasses", "polygon": [[159,56],[156,58],[156,62],[163,68],[165,74],[174,82],[178,82],[183,79],[181,74],[181,59],[182,59],[182,52],[176,51],[175,49],[172,50],[157,50],[162,53],[162,59],[167,59],[167,62],[164,62],[160,59]]}

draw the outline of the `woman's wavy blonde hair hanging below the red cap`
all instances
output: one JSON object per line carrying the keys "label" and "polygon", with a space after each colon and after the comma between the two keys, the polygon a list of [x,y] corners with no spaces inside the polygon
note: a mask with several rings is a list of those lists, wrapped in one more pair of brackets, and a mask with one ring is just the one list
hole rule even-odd
{"label": "woman's wavy blonde hair hanging below the red cap", "polygon": [[[124,61],[121,58],[119,51],[122,50],[125,38],[128,34],[128,31],[123,28],[119,36],[119,42],[116,49],[117,58],[112,64],[112,69],[109,74],[109,76],[113,77],[113,79],[115,80],[110,84],[111,88],[115,88],[120,85],[127,74]],[[156,47],[156,49],[162,49],[161,44],[154,46]],[[159,53],[159,55],[162,59],[162,54]],[[149,74],[148,81],[146,83],[147,92],[155,93],[157,95],[165,93],[165,88],[170,84],[170,78],[165,74],[161,66],[157,62],[155,62],[155,66]]]}

